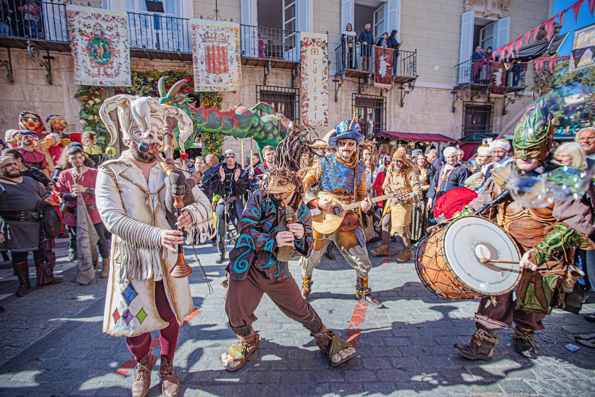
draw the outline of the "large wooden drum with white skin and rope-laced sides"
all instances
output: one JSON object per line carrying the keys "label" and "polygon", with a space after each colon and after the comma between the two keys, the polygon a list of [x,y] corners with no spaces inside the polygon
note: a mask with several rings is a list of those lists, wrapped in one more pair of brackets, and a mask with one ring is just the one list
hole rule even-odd
{"label": "large wooden drum with white skin and rope-laced sides", "polygon": [[[481,258],[516,263],[481,263]],[[419,243],[415,269],[428,290],[448,300],[497,296],[521,279],[521,253],[512,237],[480,216],[457,218]]]}

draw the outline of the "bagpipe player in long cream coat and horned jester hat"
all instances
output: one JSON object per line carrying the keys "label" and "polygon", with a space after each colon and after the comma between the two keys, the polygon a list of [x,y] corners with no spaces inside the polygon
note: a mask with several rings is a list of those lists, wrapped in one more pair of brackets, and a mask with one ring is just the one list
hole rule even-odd
{"label": "bagpipe player in long cream coat and horned jester hat", "polygon": [[126,336],[126,345],[138,362],[133,397],[145,396],[151,386],[156,361],[151,331],[160,330],[161,389],[164,396],[177,396],[180,382],[173,368],[174,353],[179,328],[194,305],[188,278],[170,275],[178,257],[174,247],[183,243],[181,229],[187,229],[187,241],[198,233],[204,243],[212,227],[211,205],[194,185],[184,196],[185,203],[192,202],[183,207],[177,222],[168,219],[168,213],[175,214],[166,201],[166,194],[174,191],[171,175],[186,174],[171,171],[166,180],[156,156],[164,147],[162,131],[172,117],[179,122],[179,147],[183,147],[183,139],[192,134],[190,117],[155,98],[115,95],[99,110],[112,137],[110,144],[117,138],[109,116],[115,108],[129,150],[99,166],[95,189],[99,215],[113,234],[103,330]]}

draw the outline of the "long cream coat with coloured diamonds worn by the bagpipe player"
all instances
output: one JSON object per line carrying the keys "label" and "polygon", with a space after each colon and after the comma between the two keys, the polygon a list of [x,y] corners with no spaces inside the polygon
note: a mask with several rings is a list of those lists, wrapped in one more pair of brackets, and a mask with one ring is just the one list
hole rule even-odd
{"label": "long cream coat with coloured diamonds worn by the bagpipe player", "polygon": [[[159,244],[161,231],[172,229],[165,215],[165,178],[157,163],[147,183],[128,150],[99,167],[97,207],[113,234],[103,329],[108,334],[137,336],[167,327],[155,305],[159,280],[180,326],[194,310],[188,278],[170,276],[177,254]],[[188,239],[198,233],[204,242],[212,230],[211,204],[198,187],[192,192],[196,202],[184,207],[194,221]]]}

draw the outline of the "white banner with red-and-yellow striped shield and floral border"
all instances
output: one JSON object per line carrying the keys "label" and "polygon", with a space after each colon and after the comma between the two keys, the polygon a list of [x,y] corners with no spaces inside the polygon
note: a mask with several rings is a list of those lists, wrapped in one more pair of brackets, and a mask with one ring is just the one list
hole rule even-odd
{"label": "white banner with red-and-yellow striped shield and floral border", "polygon": [[240,25],[193,19],[190,26],[195,91],[242,89]]}

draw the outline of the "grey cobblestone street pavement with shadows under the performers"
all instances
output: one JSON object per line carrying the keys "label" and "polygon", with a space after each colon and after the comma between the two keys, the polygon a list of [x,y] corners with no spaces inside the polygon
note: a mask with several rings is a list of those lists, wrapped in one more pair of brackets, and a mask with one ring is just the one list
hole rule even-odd
{"label": "grey cobblestone street pavement with shadows under the performers", "polygon": [[[134,361],[125,340],[101,331],[107,282],[71,283],[76,269],[71,267],[74,263],[65,263],[64,245],[65,241],[58,243],[58,266],[65,283],[33,287],[20,299],[12,294],[17,282],[10,265],[0,265],[1,393],[130,395]],[[256,311],[260,348],[245,368],[228,373],[218,359],[236,340],[227,327],[224,289],[219,285],[225,263],[214,264],[215,247],[199,247],[214,287],[208,295],[192,249],[186,250],[195,270],[190,285],[196,311],[180,330],[174,359],[180,395],[595,395],[595,351],[582,345],[577,352],[564,348],[574,343],[573,334],[594,331],[582,316],[560,311],[549,316],[546,330],[536,337],[541,356],[535,361],[514,351],[509,330],[500,333],[493,361],[466,361],[452,345],[468,342],[477,302],[441,300],[422,286],[412,263],[372,258],[370,286],[385,307],[368,308],[354,299],[353,269],[334,252],[337,260],[325,259],[314,272],[311,303],[327,327],[358,343],[358,356],[331,368],[302,325],[284,317],[265,296]],[[290,270],[299,278],[296,262],[290,263]],[[35,269],[30,271],[33,275]],[[595,304],[583,306],[583,313],[593,312]],[[158,340],[155,345],[158,355]],[[154,370],[149,396],[158,395],[161,387]]]}

